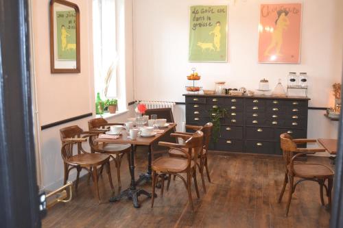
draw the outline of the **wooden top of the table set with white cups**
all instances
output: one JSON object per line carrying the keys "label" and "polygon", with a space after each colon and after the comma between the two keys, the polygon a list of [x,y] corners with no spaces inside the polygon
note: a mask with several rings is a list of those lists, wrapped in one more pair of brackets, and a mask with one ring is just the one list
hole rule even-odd
{"label": "wooden top of the table set with white cups", "polygon": [[106,142],[106,143],[118,143],[118,144],[134,144],[134,145],[150,145],[163,135],[167,134],[168,131],[176,127],[176,123],[169,123],[168,127],[160,128],[158,130],[164,130],[163,133],[157,133],[154,137],[140,137],[138,136],[136,140],[128,138],[128,133],[126,130],[121,131],[120,138],[108,139],[108,138],[97,138],[96,142]]}

